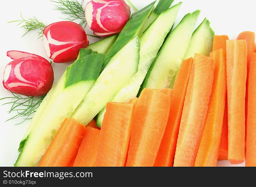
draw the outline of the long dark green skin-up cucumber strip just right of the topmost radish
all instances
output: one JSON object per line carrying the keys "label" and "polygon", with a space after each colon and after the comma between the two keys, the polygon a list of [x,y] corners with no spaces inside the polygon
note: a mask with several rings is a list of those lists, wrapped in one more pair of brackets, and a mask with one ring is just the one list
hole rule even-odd
{"label": "long dark green skin-up cucumber strip just right of the topmost radish", "polygon": [[152,9],[154,8],[155,1],[147,5],[145,8],[135,12],[131,15],[131,18],[126,23],[125,27],[119,34],[115,43],[111,47],[110,51],[105,57],[102,70],[109,63],[111,58],[133,37],[140,37],[142,34],[142,28],[145,24],[145,20],[148,18]]}

